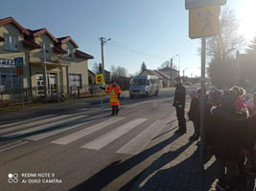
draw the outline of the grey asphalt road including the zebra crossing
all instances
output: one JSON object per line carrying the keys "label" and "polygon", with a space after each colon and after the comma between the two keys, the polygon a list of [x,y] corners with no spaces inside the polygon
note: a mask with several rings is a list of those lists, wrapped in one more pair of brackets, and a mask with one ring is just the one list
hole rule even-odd
{"label": "grey asphalt road including the zebra crossing", "polygon": [[5,117],[0,190],[129,190],[172,142],[173,97],[174,89],[163,89],[125,98],[117,117],[107,117],[107,104],[103,114],[100,105],[84,107],[82,100],[39,116]]}

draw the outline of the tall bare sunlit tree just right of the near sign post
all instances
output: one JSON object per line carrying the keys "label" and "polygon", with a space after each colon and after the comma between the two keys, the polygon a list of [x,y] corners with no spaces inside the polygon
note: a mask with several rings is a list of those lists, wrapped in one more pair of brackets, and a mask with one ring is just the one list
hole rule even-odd
{"label": "tall bare sunlit tree just right of the near sign post", "polygon": [[234,83],[234,57],[238,49],[244,46],[244,37],[238,33],[239,23],[233,11],[221,13],[221,32],[207,40],[207,55],[211,59],[208,75],[218,87],[231,86]]}

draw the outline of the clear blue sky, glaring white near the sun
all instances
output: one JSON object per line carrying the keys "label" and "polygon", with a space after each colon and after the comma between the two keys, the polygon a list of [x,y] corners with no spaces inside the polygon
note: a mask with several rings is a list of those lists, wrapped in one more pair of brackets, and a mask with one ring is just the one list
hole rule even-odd
{"label": "clear blue sky, glaring white near the sun", "polygon": [[[44,3],[42,3],[44,2]],[[256,33],[256,1],[227,0],[240,21],[240,32],[249,41]],[[23,27],[47,28],[55,37],[70,35],[82,52],[89,53],[91,69],[101,62],[99,38],[105,44],[105,69],[122,66],[128,74],[141,64],[155,70],[174,56],[185,75],[200,75],[199,39],[189,38],[185,0],[2,0],[0,18],[12,16]]]}

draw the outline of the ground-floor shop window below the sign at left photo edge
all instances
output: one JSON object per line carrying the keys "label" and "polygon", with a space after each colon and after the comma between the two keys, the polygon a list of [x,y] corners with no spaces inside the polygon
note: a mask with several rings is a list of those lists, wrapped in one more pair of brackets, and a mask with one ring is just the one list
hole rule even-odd
{"label": "ground-floor shop window below the sign at left photo edge", "polygon": [[20,90],[21,82],[15,71],[0,70],[0,92]]}

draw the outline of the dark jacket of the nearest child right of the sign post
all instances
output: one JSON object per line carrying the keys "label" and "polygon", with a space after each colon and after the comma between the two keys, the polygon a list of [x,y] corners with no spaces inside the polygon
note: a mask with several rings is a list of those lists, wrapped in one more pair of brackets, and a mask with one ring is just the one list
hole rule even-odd
{"label": "dark jacket of the nearest child right of the sign post", "polygon": [[224,160],[238,160],[246,132],[247,114],[235,107],[212,110],[210,128],[213,152]]}

